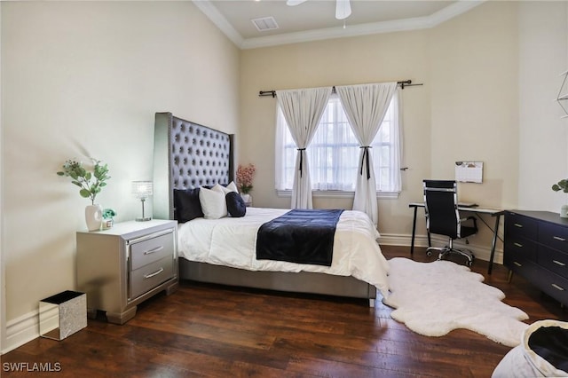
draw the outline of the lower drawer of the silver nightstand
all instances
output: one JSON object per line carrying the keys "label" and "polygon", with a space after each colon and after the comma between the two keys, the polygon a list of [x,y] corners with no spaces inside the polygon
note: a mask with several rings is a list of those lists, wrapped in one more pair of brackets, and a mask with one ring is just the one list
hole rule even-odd
{"label": "lower drawer of the silver nightstand", "polygon": [[152,264],[147,264],[130,272],[130,299],[159,286],[174,276],[174,257],[166,256]]}

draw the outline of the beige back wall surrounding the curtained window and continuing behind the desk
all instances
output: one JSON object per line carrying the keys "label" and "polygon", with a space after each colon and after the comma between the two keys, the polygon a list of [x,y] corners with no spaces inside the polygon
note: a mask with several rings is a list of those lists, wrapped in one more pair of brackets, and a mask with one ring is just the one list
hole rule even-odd
{"label": "beige back wall surrounding the curtained window and continuing behind the desk", "polygon": [[[412,79],[403,91],[403,191],[379,201],[379,231],[406,238],[408,202],[422,198],[422,178],[454,177],[454,161],[484,161],[484,184],[460,185],[461,197],[517,205],[517,3],[491,2],[436,28],[296,43],[241,52],[241,154],[258,166],[258,206],[289,205],[273,189],[275,99],[259,90]],[[314,200],[351,207],[351,200]],[[423,222],[419,232],[424,233]],[[485,234],[487,233],[487,234]],[[472,238],[484,247],[489,232]],[[478,238],[479,240],[475,240]]]}

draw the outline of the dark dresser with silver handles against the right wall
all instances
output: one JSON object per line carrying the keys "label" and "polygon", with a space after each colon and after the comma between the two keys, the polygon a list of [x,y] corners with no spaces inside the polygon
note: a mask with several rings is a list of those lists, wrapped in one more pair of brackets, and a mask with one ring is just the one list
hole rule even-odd
{"label": "dark dresser with silver handles against the right wall", "polygon": [[503,264],[568,304],[568,219],[549,211],[505,211]]}

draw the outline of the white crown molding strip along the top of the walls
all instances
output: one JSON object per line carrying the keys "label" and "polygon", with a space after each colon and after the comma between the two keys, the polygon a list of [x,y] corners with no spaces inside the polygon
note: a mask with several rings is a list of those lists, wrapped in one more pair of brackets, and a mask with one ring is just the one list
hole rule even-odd
{"label": "white crown molding strip along the top of the walls", "polygon": [[225,33],[225,35],[227,35],[227,37],[233,41],[237,47],[241,50],[247,50],[288,43],[303,43],[349,36],[373,35],[433,28],[446,20],[453,19],[462,13],[469,12],[469,10],[475,8],[479,4],[485,3],[485,1],[486,0],[460,0],[457,3],[446,6],[446,8],[438,12],[432,13],[428,17],[373,22],[353,26],[348,25],[347,28],[322,28],[304,32],[267,35],[248,39],[242,38],[233,26],[229,24],[225,17],[217,11],[217,8],[211,4],[211,0],[193,0],[193,4],[195,4],[201,12],[205,13],[205,15],[209,17],[209,20],[217,25],[217,28],[221,29],[221,31],[223,31],[223,33]]}

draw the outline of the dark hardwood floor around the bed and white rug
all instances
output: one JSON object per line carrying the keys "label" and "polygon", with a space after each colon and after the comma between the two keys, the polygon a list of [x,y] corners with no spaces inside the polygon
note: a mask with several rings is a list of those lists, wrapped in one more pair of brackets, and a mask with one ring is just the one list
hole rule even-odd
{"label": "dark hardwood floor around the bed and white rug", "polygon": [[[387,258],[409,248],[383,246]],[[423,248],[417,261],[428,261]],[[554,300],[496,265],[472,267],[499,287],[506,303],[539,319],[566,319]],[[455,330],[442,337],[414,334],[376,301],[275,294],[188,282],[177,293],[138,306],[123,326],[90,319],[57,342],[38,338],[2,356],[3,377],[489,377],[510,350],[484,336]],[[59,372],[33,370],[42,364]],[[24,364],[28,364],[27,366]],[[12,366],[12,367],[11,367]],[[38,366],[36,366],[38,367]]]}

